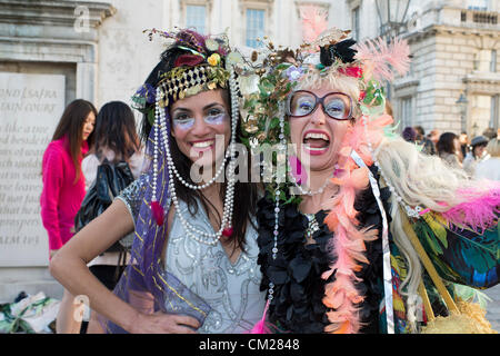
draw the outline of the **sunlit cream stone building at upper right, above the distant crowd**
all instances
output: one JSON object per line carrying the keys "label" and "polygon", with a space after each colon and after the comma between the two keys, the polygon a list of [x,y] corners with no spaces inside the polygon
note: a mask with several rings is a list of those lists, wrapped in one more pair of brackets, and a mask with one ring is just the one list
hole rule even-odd
{"label": "sunlit cream stone building at upper right, above the distant crowd", "polygon": [[[498,10],[446,1],[413,17],[403,34],[413,56],[411,71],[393,86],[402,126],[469,137],[499,128]],[[461,96],[467,102],[458,102]]]}

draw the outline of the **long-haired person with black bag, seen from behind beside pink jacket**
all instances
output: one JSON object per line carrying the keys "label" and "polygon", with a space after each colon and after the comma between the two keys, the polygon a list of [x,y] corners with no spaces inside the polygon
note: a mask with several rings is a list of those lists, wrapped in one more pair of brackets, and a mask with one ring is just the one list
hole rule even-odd
{"label": "long-haired person with black bag, seen from behind beside pink jacket", "polygon": [[[101,108],[97,118],[94,140],[96,144],[81,165],[88,191],[77,215],[78,230],[100,215],[122,189],[139,178],[142,168],[143,152],[136,129],[136,119],[127,103],[111,101]],[[99,200],[98,194],[102,190],[100,189],[102,186],[110,187],[110,189],[103,190],[107,191],[107,195],[112,195],[101,199],[104,201]],[[133,236],[129,235],[117,241],[87,265],[90,271],[110,290],[114,289],[128,259],[130,259],[130,254],[126,248],[124,240],[127,239],[130,241]],[[88,333],[97,333],[93,316],[92,314]]]}

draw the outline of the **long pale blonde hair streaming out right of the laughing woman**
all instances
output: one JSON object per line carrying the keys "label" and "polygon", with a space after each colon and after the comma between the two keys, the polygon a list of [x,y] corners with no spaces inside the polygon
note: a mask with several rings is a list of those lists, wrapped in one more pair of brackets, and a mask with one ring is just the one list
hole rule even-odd
{"label": "long pale blonde hair streaming out right of the laughing woman", "polygon": [[400,137],[382,139],[374,156],[383,177],[388,180],[387,184],[397,192],[391,195],[390,229],[394,244],[408,263],[408,276],[401,284],[400,291],[407,296],[407,316],[414,332],[422,267],[418,254],[403,230],[401,214],[406,212],[400,207],[398,196],[411,207],[421,206],[443,212],[463,202],[464,198],[458,196],[457,190],[467,189],[473,182],[468,179],[463,170],[449,166],[437,156],[420,152],[413,144]]}

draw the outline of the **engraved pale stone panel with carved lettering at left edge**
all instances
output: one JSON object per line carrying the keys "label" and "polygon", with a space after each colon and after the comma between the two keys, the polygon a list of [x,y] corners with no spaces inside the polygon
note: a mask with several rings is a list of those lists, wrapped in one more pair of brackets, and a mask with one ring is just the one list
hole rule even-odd
{"label": "engraved pale stone panel with carved lettering at left edge", "polygon": [[0,72],[0,266],[48,266],[41,162],[64,110],[64,76]]}

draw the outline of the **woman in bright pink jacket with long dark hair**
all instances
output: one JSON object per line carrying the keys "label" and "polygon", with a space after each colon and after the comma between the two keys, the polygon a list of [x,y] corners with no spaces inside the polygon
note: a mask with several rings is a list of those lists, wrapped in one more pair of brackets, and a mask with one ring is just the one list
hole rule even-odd
{"label": "woman in bright pink jacket with long dark hair", "polygon": [[[87,100],[72,101],[59,120],[42,160],[41,218],[49,235],[49,258],[73,236],[74,216],[86,195],[81,160],[93,139],[97,110]],[[73,297],[64,289],[57,333],[79,333]]]}

